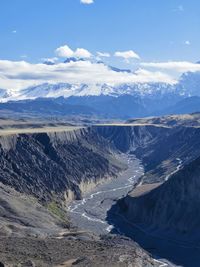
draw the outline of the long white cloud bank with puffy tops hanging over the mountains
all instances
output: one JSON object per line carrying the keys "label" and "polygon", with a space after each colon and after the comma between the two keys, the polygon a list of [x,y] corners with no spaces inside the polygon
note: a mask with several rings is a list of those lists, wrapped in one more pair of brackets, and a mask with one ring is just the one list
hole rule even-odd
{"label": "long white cloud bank with puffy tops hanging over the mountains", "polygon": [[[20,90],[42,83],[103,84],[118,85],[123,83],[176,83],[178,75],[184,72],[200,71],[200,64],[191,62],[141,62],[137,61],[135,72],[115,71],[105,65],[101,58],[110,58],[108,52],[97,52],[100,58],[87,49],[71,49],[63,45],[55,50],[56,57],[43,58],[44,63],[33,64],[27,61],[0,60],[0,88]],[[118,51],[114,54],[126,61],[140,59],[133,50]],[[62,58],[76,58],[64,62]],[[60,58],[60,59],[59,59]],[[84,60],[82,60],[84,59]],[[173,74],[172,74],[173,73]],[[178,75],[174,75],[174,73]]]}

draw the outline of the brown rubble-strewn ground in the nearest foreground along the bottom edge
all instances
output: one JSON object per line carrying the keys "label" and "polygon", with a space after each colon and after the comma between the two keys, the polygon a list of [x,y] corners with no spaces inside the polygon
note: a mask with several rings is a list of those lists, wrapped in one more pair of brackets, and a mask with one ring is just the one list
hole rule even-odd
{"label": "brown rubble-strewn ground in the nearest foreground along the bottom edge", "polygon": [[137,244],[113,236],[87,241],[73,235],[63,239],[0,237],[0,257],[9,267],[159,266]]}

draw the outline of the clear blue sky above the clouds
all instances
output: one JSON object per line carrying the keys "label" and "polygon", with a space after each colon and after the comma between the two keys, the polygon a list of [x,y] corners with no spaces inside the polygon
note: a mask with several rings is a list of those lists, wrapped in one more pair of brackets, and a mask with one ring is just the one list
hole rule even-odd
{"label": "clear blue sky above the clouds", "polygon": [[1,0],[0,10],[1,59],[37,62],[64,44],[131,49],[145,61],[200,59],[198,0]]}

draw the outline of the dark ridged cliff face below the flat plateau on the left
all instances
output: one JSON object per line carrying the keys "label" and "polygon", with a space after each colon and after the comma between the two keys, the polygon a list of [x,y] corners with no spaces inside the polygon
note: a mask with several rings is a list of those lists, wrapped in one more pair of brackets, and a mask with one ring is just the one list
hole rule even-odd
{"label": "dark ridged cliff face below the flat plateau on the left", "polygon": [[0,137],[0,182],[41,201],[80,198],[80,184],[124,166],[92,129]]}

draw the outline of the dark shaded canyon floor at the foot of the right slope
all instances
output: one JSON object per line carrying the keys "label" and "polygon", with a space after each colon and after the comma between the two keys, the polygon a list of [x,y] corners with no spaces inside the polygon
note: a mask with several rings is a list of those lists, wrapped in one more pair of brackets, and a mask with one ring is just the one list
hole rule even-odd
{"label": "dark shaded canyon floor at the foot of the right slope", "polygon": [[[123,202],[121,203],[123,205]],[[119,211],[119,203],[108,211],[107,221],[113,225],[112,234],[120,234],[137,242],[153,258],[166,259],[184,267],[199,267],[200,249],[159,236],[159,232],[150,232],[147,225],[137,225],[127,221]]]}

